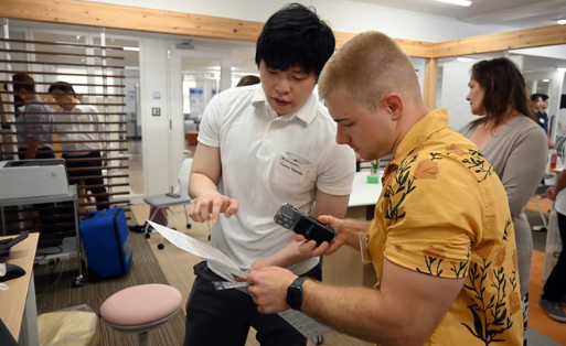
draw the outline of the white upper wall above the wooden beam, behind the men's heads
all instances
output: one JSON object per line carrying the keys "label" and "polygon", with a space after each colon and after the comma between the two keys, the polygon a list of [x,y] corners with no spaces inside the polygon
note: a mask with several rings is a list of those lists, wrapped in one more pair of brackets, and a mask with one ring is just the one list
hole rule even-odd
{"label": "white upper wall above the wooden beam, behind the men's heads", "polygon": [[[289,0],[87,0],[130,7],[205,14],[265,22]],[[382,31],[396,39],[441,42],[494,32],[511,31],[500,25],[477,25],[456,19],[392,9],[351,0],[298,1],[312,6],[333,30]]]}

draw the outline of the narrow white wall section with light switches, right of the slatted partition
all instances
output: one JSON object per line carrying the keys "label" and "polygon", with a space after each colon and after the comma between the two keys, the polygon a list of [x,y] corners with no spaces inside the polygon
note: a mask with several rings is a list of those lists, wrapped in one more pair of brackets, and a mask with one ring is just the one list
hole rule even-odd
{"label": "narrow white wall section with light switches, right of the slatted partition", "polygon": [[[146,194],[152,195],[170,191],[167,42],[142,39],[140,45]],[[161,99],[153,99],[153,91],[161,93]],[[152,107],[161,108],[161,117],[151,116]]]}

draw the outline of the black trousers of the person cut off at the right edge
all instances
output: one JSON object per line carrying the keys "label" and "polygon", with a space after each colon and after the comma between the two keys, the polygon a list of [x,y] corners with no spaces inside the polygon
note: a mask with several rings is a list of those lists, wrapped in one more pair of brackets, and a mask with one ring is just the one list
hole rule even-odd
{"label": "black trousers of the person cut off at the right edge", "polygon": [[551,302],[558,302],[563,296],[566,296],[566,215],[557,214],[563,249],[556,267],[546,279],[542,296],[542,299]]}

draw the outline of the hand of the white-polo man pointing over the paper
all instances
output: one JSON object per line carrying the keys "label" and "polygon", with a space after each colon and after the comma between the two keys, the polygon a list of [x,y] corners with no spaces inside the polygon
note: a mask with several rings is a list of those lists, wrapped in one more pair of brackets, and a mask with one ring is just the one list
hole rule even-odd
{"label": "hand of the white-polo man pointing over the paper", "polygon": [[189,216],[196,223],[212,220],[213,224],[216,224],[221,213],[224,213],[225,217],[231,217],[238,212],[238,208],[236,199],[214,191],[193,199]]}

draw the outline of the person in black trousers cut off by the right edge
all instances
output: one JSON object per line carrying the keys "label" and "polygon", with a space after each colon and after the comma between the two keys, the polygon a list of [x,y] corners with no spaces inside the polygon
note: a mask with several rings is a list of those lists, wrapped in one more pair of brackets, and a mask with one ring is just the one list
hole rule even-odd
{"label": "person in black trousers cut off by the right edge", "polygon": [[566,171],[562,171],[556,185],[546,191],[546,196],[551,201],[555,201],[554,207],[558,216],[558,231],[563,249],[556,266],[546,279],[540,304],[548,317],[566,323],[566,313],[563,309],[566,306],[566,191],[564,187],[566,187]]}

